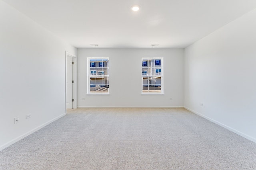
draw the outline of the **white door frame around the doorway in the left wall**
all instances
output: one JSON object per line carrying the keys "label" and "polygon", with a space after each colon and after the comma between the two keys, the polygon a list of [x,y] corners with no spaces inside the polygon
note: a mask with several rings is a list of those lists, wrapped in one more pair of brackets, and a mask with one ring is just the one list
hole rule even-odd
{"label": "white door frame around the doorway in the left wall", "polygon": [[74,99],[73,109],[77,109],[77,57],[76,57],[76,55],[73,55],[72,53],[69,53],[68,51],[66,51],[66,55],[65,55],[65,110],[67,110],[67,107],[66,107],[67,57],[72,57],[73,62],[74,62],[74,65],[73,65],[73,80],[74,80],[74,84],[73,84],[73,99]]}

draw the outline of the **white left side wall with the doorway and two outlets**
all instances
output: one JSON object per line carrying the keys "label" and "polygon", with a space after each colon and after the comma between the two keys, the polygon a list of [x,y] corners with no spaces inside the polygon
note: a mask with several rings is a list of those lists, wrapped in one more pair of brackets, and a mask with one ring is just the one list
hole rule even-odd
{"label": "white left side wall with the doorway and two outlets", "polygon": [[77,50],[2,0],[0,21],[1,150],[64,115],[65,51]]}

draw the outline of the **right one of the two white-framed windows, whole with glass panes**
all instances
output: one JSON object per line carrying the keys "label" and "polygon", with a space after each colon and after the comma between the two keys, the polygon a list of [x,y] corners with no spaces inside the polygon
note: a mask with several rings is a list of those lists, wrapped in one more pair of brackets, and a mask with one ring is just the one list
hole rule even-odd
{"label": "right one of the two white-framed windows, whole with glass panes", "polygon": [[142,58],[142,94],[163,94],[163,58]]}

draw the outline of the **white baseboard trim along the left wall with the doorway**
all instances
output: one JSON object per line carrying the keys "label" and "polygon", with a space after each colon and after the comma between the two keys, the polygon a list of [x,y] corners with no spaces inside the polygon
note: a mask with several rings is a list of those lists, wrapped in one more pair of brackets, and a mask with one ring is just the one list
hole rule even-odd
{"label": "white baseboard trim along the left wall with the doorway", "polygon": [[23,135],[21,135],[21,136],[15,138],[15,139],[13,139],[12,141],[10,141],[10,142],[8,142],[8,143],[6,143],[6,144],[0,146],[0,150],[3,150],[3,149],[5,149],[5,148],[9,147],[10,145],[12,145],[12,144],[14,144],[14,143],[20,141],[20,140],[23,139],[24,137],[27,137],[28,135],[34,133],[35,131],[38,131],[39,129],[45,127],[46,125],[49,125],[50,123],[52,123],[52,122],[54,122],[54,121],[60,119],[60,117],[63,117],[63,116],[65,116],[65,115],[66,115],[66,113],[63,113],[62,115],[59,115],[58,117],[55,117],[54,119],[52,119],[52,120],[50,120],[50,121],[48,121],[48,122],[46,122],[46,123],[44,123],[44,124],[42,124],[42,125],[40,125],[40,126],[34,128],[34,129],[32,129],[31,131],[28,131],[27,133],[24,133]]}

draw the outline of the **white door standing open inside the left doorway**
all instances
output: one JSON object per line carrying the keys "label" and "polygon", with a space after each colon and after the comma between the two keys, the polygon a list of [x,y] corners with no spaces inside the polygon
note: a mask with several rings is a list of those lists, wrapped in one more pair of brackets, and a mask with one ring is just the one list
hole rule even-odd
{"label": "white door standing open inside the left doorway", "polygon": [[73,57],[66,62],[66,108],[73,109]]}

